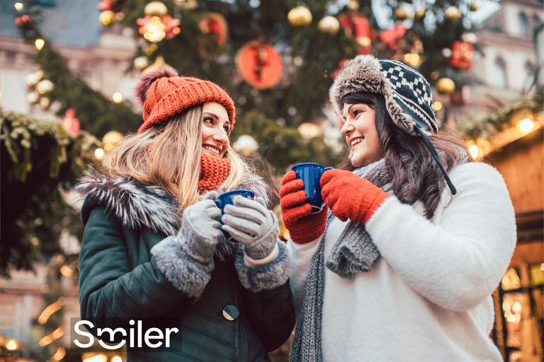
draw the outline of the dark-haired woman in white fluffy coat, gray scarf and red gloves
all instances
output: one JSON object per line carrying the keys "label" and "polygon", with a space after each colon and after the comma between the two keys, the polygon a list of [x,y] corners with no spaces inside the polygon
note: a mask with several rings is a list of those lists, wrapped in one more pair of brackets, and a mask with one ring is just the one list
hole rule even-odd
{"label": "dark-haired woman in white fluffy coat, gray scarf and red gloves", "polygon": [[291,171],[280,204],[298,314],[291,361],[502,361],[492,292],[516,243],[501,175],[438,133],[431,89],[358,56],[330,91],[351,151],[310,214]]}

